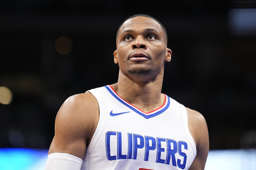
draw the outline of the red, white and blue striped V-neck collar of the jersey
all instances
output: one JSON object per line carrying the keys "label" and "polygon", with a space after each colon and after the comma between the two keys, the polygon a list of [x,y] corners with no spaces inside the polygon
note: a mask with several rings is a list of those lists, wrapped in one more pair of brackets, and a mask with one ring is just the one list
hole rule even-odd
{"label": "red, white and blue striped V-neck collar of the jersey", "polygon": [[170,106],[170,99],[167,95],[165,95],[165,100],[163,102],[163,105],[160,106],[159,108],[151,111],[151,112],[143,112],[141,109],[135,107],[134,105],[130,104],[129,102],[125,101],[122,97],[120,97],[117,92],[115,92],[115,90],[110,86],[104,86],[112,96],[115,97],[115,99],[117,99],[119,102],[121,102],[122,104],[124,104],[125,106],[127,106],[128,108],[130,108],[131,110],[133,110],[134,112],[138,113],[139,115],[145,117],[145,118],[151,118],[154,116],[157,116],[158,114],[163,113],[164,111],[166,111],[166,109],[168,109],[168,107]]}

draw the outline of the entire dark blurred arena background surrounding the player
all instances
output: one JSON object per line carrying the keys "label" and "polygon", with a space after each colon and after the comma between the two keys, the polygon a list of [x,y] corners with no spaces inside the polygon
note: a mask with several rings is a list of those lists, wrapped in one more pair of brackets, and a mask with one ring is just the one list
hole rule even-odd
{"label": "entire dark blurred arena background surrounding the player", "polygon": [[[162,92],[205,117],[209,169],[256,169],[255,1],[4,1],[0,5],[0,169],[44,169],[58,109],[117,82],[119,25],[166,28]],[[18,168],[17,168],[18,167]]]}

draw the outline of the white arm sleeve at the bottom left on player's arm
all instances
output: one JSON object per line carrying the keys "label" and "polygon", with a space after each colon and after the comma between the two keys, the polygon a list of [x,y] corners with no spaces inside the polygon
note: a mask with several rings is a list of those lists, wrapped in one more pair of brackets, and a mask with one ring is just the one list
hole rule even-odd
{"label": "white arm sleeve at the bottom left on player's arm", "polygon": [[80,170],[83,160],[66,153],[51,153],[48,155],[45,170]]}

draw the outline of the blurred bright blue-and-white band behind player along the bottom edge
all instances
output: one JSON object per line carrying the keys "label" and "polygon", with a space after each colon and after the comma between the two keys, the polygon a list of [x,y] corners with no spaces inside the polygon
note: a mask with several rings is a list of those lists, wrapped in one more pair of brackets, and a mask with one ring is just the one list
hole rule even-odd
{"label": "blurred bright blue-and-white band behind player along the bottom edge", "polygon": [[[48,149],[0,148],[0,169],[44,170]],[[256,149],[210,150],[205,170],[256,169]]]}

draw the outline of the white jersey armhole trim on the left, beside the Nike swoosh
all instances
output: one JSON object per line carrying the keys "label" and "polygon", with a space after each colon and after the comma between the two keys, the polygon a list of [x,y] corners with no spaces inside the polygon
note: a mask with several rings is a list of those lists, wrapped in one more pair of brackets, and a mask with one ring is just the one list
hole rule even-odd
{"label": "white jersey armhole trim on the left, beside the Nike swoosh", "polygon": [[105,114],[105,108],[103,105],[103,102],[101,100],[101,98],[98,96],[98,92],[95,92],[94,89],[92,90],[88,90],[86,92],[90,92],[98,101],[98,105],[99,105],[99,122],[97,124],[97,127],[95,129],[95,132],[93,134],[93,137],[91,138],[91,142],[88,145],[88,147],[86,148],[86,153],[85,155],[87,155],[95,146],[96,142],[99,139],[99,136],[101,135],[101,132],[103,130],[103,127],[105,125],[105,121],[106,121],[106,114]]}

